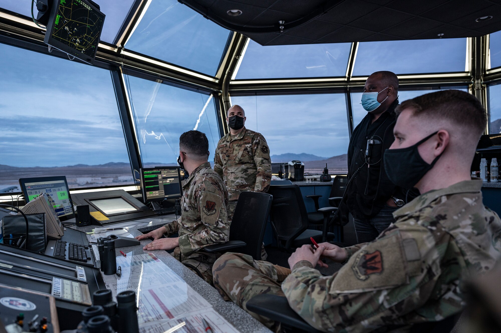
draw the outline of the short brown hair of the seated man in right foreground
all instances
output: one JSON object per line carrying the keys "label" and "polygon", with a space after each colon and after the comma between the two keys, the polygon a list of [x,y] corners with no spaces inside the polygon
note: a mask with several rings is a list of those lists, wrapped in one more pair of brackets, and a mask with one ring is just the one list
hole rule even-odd
{"label": "short brown hair of the seated man in right foreground", "polygon": [[487,124],[487,115],[480,101],[461,90],[441,90],[407,99],[397,106],[397,114],[406,108],[411,108],[413,115],[422,114],[432,119],[445,119],[467,127],[478,134],[478,137]]}

